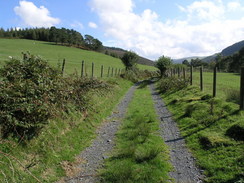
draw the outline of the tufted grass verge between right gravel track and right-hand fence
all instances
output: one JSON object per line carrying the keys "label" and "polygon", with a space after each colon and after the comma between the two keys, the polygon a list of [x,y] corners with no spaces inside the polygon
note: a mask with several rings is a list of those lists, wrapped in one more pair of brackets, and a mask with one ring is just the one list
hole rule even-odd
{"label": "tufted grass verge between right gravel track and right-hand fence", "polygon": [[205,170],[205,181],[243,182],[244,112],[238,105],[213,99],[196,87],[166,91],[162,97]]}

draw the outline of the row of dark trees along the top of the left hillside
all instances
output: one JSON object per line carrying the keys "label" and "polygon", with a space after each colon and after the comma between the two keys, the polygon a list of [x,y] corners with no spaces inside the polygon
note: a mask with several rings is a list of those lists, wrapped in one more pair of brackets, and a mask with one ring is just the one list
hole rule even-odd
{"label": "row of dark trees along the top of the left hillside", "polygon": [[3,29],[0,28],[0,38],[19,38],[38,41],[55,42],[56,44],[76,46],[84,49],[100,51],[103,44],[91,35],[81,35],[81,33],[66,28],[26,28],[26,29]]}

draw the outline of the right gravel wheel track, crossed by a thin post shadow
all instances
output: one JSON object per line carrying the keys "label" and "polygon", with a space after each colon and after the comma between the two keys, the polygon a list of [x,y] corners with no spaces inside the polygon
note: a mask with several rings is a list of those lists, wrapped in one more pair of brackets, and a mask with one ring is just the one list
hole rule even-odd
{"label": "right gravel wheel track, crossed by a thin post shadow", "polygon": [[160,133],[165,143],[170,148],[170,162],[174,171],[170,172],[171,178],[177,183],[200,183],[203,182],[201,171],[195,165],[195,160],[186,148],[185,140],[180,136],[176,122],[171,113],[156,91],[153,83],[150,84],[151,93],[155,103],[155,109],[160,123]]}

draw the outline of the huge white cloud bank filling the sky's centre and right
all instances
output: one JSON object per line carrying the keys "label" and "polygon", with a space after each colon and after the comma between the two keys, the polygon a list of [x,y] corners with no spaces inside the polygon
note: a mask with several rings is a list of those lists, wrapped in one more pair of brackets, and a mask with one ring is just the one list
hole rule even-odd
{"label": "huge white cloud bank filling the sky's centre and right", "polygon": [[161,55],[173,58],[210,55],[244,39],[244,14],[237,19],[226,15],[230,7],[242,11],[240,4],[199,0],[186,7],[176,6],[186,18],[162,22],[150,9],[136,14],[132,0],[91,0],[105,35],[118,43],[113,46],[134,50],[151,59]]}

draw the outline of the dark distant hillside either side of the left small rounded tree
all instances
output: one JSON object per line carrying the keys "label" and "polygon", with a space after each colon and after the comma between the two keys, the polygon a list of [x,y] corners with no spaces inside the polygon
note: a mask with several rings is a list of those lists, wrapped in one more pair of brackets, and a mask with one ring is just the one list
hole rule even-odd
{"label": "dark distant hillside either side of the left small rounded tree", "polygon": [[[104,46],[104,53],[114,57],[120,58],[124,55],[125,52],[126,50],[121,48]],[[141,56],[139,56],[139,60],[137,63],[142,65],[154,66],[154,62],[152,60],[149,60]]]}

